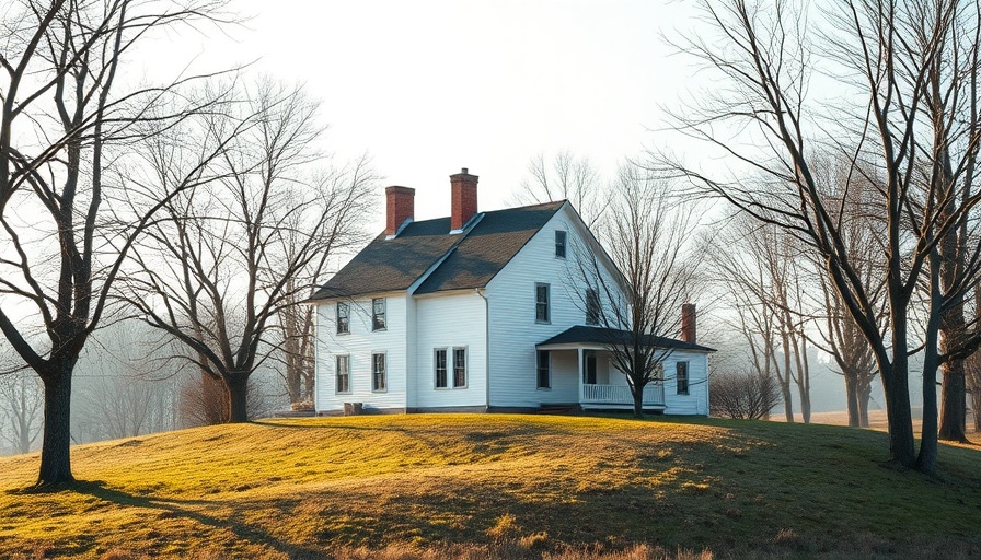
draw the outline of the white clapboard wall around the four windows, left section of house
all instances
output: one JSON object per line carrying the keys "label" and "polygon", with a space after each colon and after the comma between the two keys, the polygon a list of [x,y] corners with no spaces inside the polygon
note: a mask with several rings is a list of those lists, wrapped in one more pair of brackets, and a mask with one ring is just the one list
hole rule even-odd
{"label": "white clapboard wall around the four windows, left section of house", "polygon": [[[384,330],[371,330],[371,299],[350,304],[350,332],[337,334],[335,304],[318,305],[316,328],[316,410],[344,409],[345,402],[362,402],[367,409],[406,407],[406,298],[385,296]],[[371,390],[371,355],[384,353],[388,388]],[[337,394],[335,357],[350,357],[350,393]]]}

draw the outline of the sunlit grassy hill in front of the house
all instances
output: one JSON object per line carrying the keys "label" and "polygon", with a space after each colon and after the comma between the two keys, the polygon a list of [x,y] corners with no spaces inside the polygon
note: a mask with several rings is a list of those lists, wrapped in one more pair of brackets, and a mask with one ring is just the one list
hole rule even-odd
{"label": "sunlit grassy hill in front of the house", "polygon": [[0,558],[967,558],[981,452],[879,466],[827,425],[418,415],[262,421],[0,459]]}

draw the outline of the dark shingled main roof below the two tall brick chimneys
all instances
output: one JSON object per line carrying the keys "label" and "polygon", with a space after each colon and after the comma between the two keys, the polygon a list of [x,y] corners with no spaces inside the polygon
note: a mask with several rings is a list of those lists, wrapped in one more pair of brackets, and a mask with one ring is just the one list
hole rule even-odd
{"label": "dark shingled main roof below the two tall brick chimneys", "polygon": [[415,293],[483,288],[564,203],[485,212],[457,235],[449,234],[449,218],[412,222],[391,240],[382,233],[311,300],[406,290],[451,249]]}

